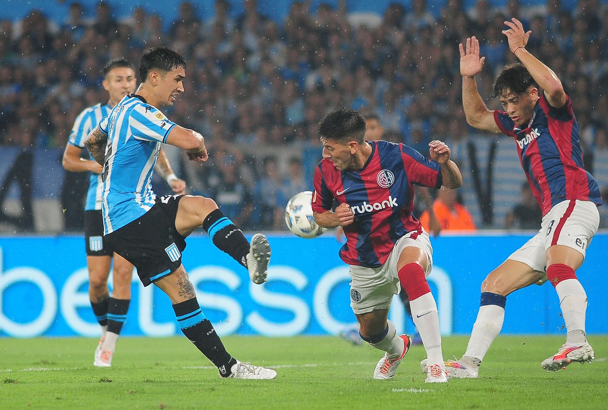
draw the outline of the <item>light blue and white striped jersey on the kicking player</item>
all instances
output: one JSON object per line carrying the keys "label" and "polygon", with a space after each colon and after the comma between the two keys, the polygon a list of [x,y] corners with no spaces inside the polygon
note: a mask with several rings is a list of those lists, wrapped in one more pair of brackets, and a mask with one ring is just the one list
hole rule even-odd
{"label": "light blue and white striped jersey on the kicking player", "polygon": [[148,212],[156,202],[152,172],[161,142],[175,125],[143,97],[130,94],[99,128],[108,134],[103,165],[103,231],[107,235]]}

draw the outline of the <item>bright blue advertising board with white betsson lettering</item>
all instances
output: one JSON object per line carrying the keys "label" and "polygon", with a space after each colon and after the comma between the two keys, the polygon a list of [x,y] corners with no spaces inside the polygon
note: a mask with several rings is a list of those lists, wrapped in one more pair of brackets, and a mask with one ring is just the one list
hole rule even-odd
{"label": "bright blue advertising board with white betsson lettering", "polygon": [[[480,285],[528,238],[522,235],[439,237],[433,240],[429,277],[437,299],[441,333],[471,332]],[[254,285],[246,269],[218,251],[206,236],[188,238],[184,266],[199,303],[221,335],[325,335],[354,324],[349,305],[348,268],[337,257],[331,232],[305,240],[271,236],[268,282]],[[601,252],[608,235],[596,235],[577,272],[589,297],[587,332],[608,333],[608,285]],[[87,293],[82,237],[0,237],[0,336],[98,336]],[[168,298],[144,288],[136,274],[123,335],[180,334]],[[395,297],[390,318],[398,330],[412,322]],[[503,333],[565,333],[559,301],[545,283],[507,298]]]}

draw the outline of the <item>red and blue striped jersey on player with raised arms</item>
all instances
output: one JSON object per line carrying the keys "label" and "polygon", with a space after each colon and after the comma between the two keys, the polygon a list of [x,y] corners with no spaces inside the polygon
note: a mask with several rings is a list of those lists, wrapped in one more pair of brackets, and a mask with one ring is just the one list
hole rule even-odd
{"label": "red and blue striped jersey on player with raised arms", "polygon": [[565,200],[602,204],[598,181],[582,164],[570,97],[564,107],[554,108],[542,93],[527,128],[518,128],[503,111],[494,111],[494,120],[504,134],[515,138],[519,161],[543,216]]}

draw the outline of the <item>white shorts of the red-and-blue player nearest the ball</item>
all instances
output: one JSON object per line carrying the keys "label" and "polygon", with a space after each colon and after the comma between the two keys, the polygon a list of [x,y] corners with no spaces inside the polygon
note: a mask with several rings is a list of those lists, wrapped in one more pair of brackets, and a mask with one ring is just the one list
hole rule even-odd
{"label": "white shorts of the red-and-blue player nearest the ball", "polygon": [[[414,238],[412,238],[414,237]],[[388,309],[393,301],[393,295],[398,294],[401,287],[397,273],[397,262],[403,249],[408,246],[420,248],[426,254],[428,264],[426,276],[433,269],[433,248],[430,246],[429,234],[423,230],[409,232],[401,237],[395,248],[390,252],[389,259],[379,268],[350,266],[350,307],[356,314],[367,313],[376,309]]]}

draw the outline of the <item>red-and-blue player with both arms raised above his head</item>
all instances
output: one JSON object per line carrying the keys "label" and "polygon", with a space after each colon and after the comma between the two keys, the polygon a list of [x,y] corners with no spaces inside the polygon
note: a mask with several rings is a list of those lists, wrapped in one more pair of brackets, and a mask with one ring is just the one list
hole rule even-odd
{"label": "red-and-blue player with both arms raised above his head", "polygon": [[479,57],[475,37],[466,40],[466,48],[460,44],[463,106],[473,127],[515,139],[543,218],[538,234],[483,281],[481,307],[465,355],[447,363],[451,377],[477,377],[483,356],[502,327],[506,296],[547,279],[558,293],[568,333],[558,353],[542,362],[543,369],[557,371],[593,359],[585,337],[587,295],[575,270],[598,229],[599,187],[582,167],[570,97],[555,73],[525,49],[531,32],[525,32],[517,19],[505,24],[509,28],[503,34],[521,63],[507,66],[494,81],[493,93],[504,111],[489,111],[477,91],[475,75],[482,70],[484,57]]}

